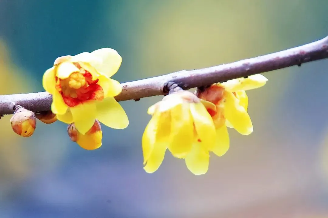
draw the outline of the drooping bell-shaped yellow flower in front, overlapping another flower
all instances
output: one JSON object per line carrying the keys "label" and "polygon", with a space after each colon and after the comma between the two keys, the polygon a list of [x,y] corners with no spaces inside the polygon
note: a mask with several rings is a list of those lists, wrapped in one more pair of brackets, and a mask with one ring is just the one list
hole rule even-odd
{"label": "drooping bell-shaped yellow flower in front, overlapping another flower", "polygon": [[[214,104],[203,103],[216,110]],[[174,157],[185,159],[192,173],[205,174],[209,151],[216,150],[217,144],[212,117],[202,101],[191,92],[174,92],[151,106],[148,113],[152,119],[142,137],[145,171],[156,171],[168,148]]]}

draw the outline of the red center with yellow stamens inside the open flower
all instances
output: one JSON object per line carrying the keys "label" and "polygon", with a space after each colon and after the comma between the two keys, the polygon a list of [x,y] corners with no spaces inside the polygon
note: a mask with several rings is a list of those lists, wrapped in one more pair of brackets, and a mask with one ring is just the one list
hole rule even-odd
{"label": "red center with yellow stamens inside the open flower", "polygon": [[56,89],[61,93],[64,102],[69,107],[74,107],[88,100],[102,100],[104,91],[99,86],[98,79],[92,80],[90,72],[76,65],[80,72],[72,73],[66,79],[56,77]]}

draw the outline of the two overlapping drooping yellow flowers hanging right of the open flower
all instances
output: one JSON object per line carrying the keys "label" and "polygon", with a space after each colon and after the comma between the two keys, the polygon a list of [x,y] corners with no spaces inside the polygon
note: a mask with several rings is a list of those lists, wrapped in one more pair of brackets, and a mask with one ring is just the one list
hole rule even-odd
{"label": "two overlapping drooping yellow flowers hanging right of the open flower", "polygon": [[210,152],[222,156],[229,149],[227,127],[243,135],[253,132],[245,90],[266,81],[258,74],[212,84],[195,94],[180,90],[151,106],[152,118],[142,137],[145,171],[156,171],[168,149],[174,157],[185,159],[192,173],[205,174]]}

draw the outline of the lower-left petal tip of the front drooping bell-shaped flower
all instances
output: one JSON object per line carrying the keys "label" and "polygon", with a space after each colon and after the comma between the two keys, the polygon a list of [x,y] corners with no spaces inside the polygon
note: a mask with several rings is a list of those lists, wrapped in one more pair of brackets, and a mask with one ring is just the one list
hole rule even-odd
{"label": "lower-left petal tip of the front drooping bell-shaped flower", "polygon": [[165,143],[156,143],[154,149],[147,160],[146,165],[144,166],[144,170],[147,173],[154,173],[158,167],[163,162],[165,151],[166,151],[166,144]]}

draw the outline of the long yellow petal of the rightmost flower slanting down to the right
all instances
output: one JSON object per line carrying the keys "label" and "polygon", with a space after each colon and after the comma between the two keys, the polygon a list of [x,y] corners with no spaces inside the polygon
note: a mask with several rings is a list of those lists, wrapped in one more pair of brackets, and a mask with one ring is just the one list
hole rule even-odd
{"label": "long yellow petal of the rightmost flower slanting down to the right", "polygon": [[230,124],[242,135],[253,132],[253,124],[247,111],[239,104],[239,100],[232,92],[224,92],[224,116]]}

